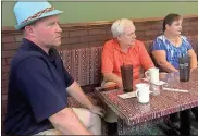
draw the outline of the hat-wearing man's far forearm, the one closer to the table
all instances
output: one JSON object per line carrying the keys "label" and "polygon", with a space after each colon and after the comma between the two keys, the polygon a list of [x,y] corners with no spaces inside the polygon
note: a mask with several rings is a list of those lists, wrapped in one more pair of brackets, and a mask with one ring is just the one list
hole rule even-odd
{"label": "hat-wearing man's far forearm, the one closer to the table", "polygon": [[83,92],[82,88],[79,85],[74,82],[70,87],[66,88],[66,91],[79,103],[84,104],[88,109],[92,107],[92,103],[90,100],[87,98],[87,96]]}

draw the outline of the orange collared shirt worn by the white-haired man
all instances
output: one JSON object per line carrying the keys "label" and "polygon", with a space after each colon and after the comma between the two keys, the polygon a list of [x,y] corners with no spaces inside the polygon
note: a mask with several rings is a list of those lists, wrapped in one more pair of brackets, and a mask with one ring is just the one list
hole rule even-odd
{"label": "orange collared shirt worn by the white-haired man", "polygon": [[121,77],[120,66],[123,64],[133,65],[133,78],[139,78],[140,66],[144,70],[153,67],[153,63],[145,48],[145,45],[136,40],[135,45],[128,48],[128,52],[121,51],[120,45],[116,40],[112,39],[104,44],[102,50],[102,73],[114,73]]}

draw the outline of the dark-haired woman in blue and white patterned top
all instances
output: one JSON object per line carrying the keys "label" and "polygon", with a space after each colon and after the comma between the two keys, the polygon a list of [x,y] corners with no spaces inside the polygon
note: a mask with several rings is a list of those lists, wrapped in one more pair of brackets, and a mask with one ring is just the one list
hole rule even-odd
{"label": "dark-haired woman in blue and white patterned top", "polygon": [[191,70],[197,67],[197,55],[182,32],[182,16],[169,14],[163,20],[163,35],[153,41],[152,55],[157,64],[165,72],[178,71],[178,58],[191,57]]}

